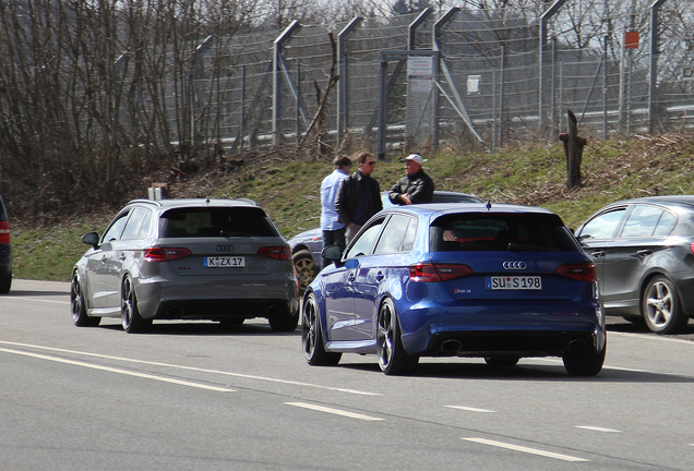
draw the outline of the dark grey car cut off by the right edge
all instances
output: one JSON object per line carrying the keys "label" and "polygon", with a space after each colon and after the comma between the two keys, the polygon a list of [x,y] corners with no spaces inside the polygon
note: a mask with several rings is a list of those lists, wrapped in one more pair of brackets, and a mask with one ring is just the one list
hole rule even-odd
{"label": "dark grey car cut off by the right edge", "polygon": [[576,231],[606,314],[674,334],[694,316],[694,196],[613,203]]}

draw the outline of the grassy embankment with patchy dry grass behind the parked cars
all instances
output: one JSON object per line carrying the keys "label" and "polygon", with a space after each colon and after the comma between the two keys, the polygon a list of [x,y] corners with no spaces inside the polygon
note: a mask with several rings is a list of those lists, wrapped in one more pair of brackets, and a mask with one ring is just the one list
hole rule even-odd
{"label": "grassy embankment with patchy dry grass behind the parked cars", "polygon": [[[541,206],[576,228],[613,201],[694,194],[692,155],[694,143],[680,134],[589,144],[584,149],[583,186],[574,191],[566,190],[565,157],[560,145],[495,154],[440,154],[430,158],[426,168],[438,190],[474,193],[492,203]],[[216,171],[193,176],[174,184],[171,193],[174,197],[255,200],[288,238],[319,225],[319,186],[330,171],[326,162],[249,165],[230,179],[216,179]],[[387,190],[403,174],[399,161],[385,161],[378,164],[373,177],[382,190]],[[142,191],[146,195],[146,189]],[[14,276],[69,281],[72,265],[86,249],[81,235],[92,230],[100,233],[107,224],[108,218],[103,216],[79,215],[50,228],[14,230]]]}

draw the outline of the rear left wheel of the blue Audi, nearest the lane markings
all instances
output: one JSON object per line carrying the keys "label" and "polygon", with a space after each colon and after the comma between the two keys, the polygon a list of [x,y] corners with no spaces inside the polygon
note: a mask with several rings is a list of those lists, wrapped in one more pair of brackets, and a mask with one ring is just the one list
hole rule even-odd
{"label": "rear left wheel of the blue Audi, nearest the lane markings", "polygon": [[400,324],[390,298],[379,309],[376,354],[381,371],[388,376],[410,374],[419,362],[419,357],[408,354],[403,347]]}

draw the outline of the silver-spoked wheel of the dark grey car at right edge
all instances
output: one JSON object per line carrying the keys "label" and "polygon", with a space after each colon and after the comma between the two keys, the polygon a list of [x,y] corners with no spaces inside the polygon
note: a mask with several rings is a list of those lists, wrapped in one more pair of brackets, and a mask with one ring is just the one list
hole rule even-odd
{"label": "silver-spoked wheel of the dark grey car at right edge", "polygon": [[682,312],[674,285],[661,275],[646,285],[641,298],[641,312],[648,329],[656,334],[677,334],[689,321]]}

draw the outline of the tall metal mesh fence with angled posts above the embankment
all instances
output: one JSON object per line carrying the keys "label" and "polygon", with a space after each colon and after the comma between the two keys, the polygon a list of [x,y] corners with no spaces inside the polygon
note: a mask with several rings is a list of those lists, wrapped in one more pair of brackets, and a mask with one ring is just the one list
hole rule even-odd
{"label": "tall metal mesh fence with angled posts above the embankment", "polygon": [[318,154],[380,157],[555,141],[567,110],[602,138],[692,125],[690,2],[531,3],[355,17],[333,25],[334,44],[298,22],[210,36],[191,47],[192,86],[164,84],[168,119],[184,117],[179,141],[232,153],[296,147],[312,125]]}

